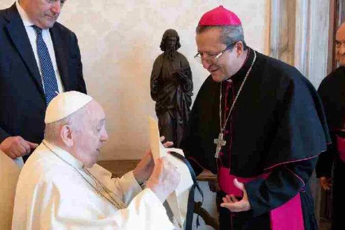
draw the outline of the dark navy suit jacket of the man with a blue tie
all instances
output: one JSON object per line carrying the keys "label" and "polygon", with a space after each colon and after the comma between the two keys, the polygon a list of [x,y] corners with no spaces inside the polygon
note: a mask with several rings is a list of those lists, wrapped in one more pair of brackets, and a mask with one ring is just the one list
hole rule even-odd
{"label": "dark navy suit jacket of the man with a blue tie", "polygon": [[[65,91],[86,93],[78,40],[55,23],[49,29]],[[15,4],[0,10],[0,143],[10,136],[40,143],[46,110],[41,75]]]}

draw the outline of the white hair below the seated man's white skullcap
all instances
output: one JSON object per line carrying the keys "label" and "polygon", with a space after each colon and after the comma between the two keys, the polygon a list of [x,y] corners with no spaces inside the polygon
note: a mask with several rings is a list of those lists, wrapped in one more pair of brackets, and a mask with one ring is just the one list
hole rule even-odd
{"label": "white hair below the seated man's white skullcap", "polygon": [[88,111],[88,106],[84,106],[62,120],[46,124],[44,130],[44,139],[52,143],[54,143],[56,140],[59,140],[60,129],[64,125],[69,125],[76,132],[82,131],[83,121]]}

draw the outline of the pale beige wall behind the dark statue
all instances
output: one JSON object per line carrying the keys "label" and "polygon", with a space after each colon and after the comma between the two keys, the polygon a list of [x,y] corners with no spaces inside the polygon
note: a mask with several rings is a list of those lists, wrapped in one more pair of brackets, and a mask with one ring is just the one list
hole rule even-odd
{"label": "pale beige wall behind the dark statue", "polygon": [[[0,8],[13,0],[1,0]],[[248,45],[267,53],[268,0],[68,0],[59,22],[78,38],[88,93],[107,114],[108,141],[101,159],[137,159],[148,148],[148,116],[155,116],[149,79],[163,32],[176,29],[193,71],[197,94],[207,72],[193,56],[195,27],[218,5],[241,18]]]}

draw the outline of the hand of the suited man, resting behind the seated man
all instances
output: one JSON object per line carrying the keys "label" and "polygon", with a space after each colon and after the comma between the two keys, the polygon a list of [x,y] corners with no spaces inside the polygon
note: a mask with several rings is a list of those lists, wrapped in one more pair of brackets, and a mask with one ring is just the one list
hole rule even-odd
{"label": "hand of the suited man, resting behind the seated man", "polygon": [[5,152],[12,159],[30,154],[32,148],[36,148],[38,144],[24,140],[22,137],[8,137],[0,143],[0,150]]}

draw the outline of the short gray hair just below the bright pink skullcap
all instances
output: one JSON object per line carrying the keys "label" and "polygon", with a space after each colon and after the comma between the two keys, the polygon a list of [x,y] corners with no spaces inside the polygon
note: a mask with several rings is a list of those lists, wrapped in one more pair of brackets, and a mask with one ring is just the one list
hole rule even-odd
{"label": "short gray hair just below the bright pink skullcap", "polygon": [[[206,32],[213,28],[220,28],[222,35],[220,36],[220,43],[229,46],[236,42],[242,42],[243,49],[247,49],[247,45],[244,41],[244,33],[242,26],[198,26],[196,29],[197,34]],[[232,50],[232,47],[230,50]]]}

